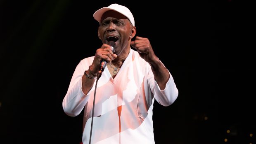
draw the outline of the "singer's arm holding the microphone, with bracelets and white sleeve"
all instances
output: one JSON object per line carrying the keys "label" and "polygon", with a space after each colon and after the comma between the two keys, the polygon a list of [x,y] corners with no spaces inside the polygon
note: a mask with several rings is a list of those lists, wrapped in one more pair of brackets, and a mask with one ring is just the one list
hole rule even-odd
{"label": "singer's arm holding the microphone, with bracelets and white sleeve", "polygon": [[93,77],[88,69],[90,65],[91,72],[97,73],[101,60],[104,59],[109,62],[116,57],[116,54],[113,54],[109,45],[103,44],[101,48],[97,49],[94,57],[85,58],[77,65],[69,84],[68,91],[62,102],[62,107],[67,115],[77,116],[88,102],[95,79],[86,77],[84,74],[85,70],[87,70],[87,74]]}

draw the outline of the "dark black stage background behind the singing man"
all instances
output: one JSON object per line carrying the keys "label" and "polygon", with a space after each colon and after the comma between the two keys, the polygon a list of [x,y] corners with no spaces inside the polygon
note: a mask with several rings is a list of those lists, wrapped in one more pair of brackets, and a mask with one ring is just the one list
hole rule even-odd
{"label": "dark black stage background behind the singing man", "polygon": [[251,3],[1,0],[1,144],[81,142],[82,113],[67,116],[62,100],[76,65],[102,45],[93,13],[111,3],[130,9],[179,90],[173,105],[154,104],[156,144],[256,143]]}

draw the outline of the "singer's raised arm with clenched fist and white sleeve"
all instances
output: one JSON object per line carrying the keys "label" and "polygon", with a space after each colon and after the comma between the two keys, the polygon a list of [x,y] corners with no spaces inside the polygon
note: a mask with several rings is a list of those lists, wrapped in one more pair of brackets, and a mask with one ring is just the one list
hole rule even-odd
{"label": "singer's raised arm with clenched fist and white sleeve", "polygon": [[131,42],[131,45],[137,49],[140,57],[149,63],[151,67],[152,72],[149,72],[148,83],[154,98],[161,105],[171,105],[178,97],[178,89],[171,73],[154,54],[149,40],[143,37],[136,37],[135,41]]}

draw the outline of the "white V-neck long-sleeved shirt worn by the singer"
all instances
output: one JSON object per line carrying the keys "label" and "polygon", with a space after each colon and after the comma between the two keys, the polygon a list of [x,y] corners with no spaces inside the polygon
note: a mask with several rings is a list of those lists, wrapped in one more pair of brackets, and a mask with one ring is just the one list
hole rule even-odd
{"label": "white V-neck long-sleeved shirt worn by the singer", "polygon": [[[83,144],[89,144],[96,80],[85,95],[81,79],[93,58],[77,65],[62,103],[69,116],[77,116],[84,108]],[[150,65],[133,49],[114,79],[109,71],[106,67],[97,82],[91,144],[154,144],[154,100],[168,106],[178,97],[171,73],[166,88],[160,90]]]}

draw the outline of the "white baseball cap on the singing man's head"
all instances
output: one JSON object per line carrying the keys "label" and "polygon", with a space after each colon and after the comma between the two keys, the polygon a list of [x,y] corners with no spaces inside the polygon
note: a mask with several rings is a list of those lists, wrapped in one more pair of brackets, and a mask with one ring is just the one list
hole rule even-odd
{"label": "white baseball cap on the singing man's head", "polygon": [[100,22],[102,14],[104,14],[104,12],[107,12],[109,10],[114,10],[116,12],[119,12],[119,13],[123,14],[124,16],[126,16],[130,20],[130,22],[133,24],[133,26],[135,26],[135,21],[134,21],[134,18],[133,18],[133,14],[130,12],[130,10],[125,6],[118,5],[118,4],[112,4],[112,5],[109,5],[108,7],[102,7],[101,9],[97,10],[93,14],[94,19],[96,19],[98,22]]}

